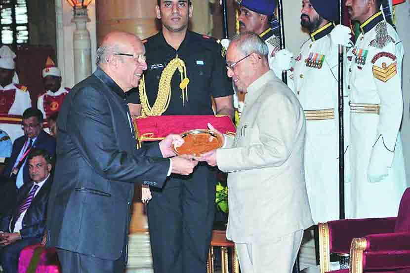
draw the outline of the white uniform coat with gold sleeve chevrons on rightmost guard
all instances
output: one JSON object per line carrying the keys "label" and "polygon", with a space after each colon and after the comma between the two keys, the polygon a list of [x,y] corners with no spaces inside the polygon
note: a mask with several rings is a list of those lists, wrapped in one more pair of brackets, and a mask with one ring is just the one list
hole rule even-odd
{"label": "white uniform coat with gold sleeve chevrons on rightmost guard", "polygon": [[[403,44],[381,12],[361,31],[349,81],[352,185],[347,217],[393,217],[408,187],[399,132]],[[374,179],[380,173],[387,177]]]}

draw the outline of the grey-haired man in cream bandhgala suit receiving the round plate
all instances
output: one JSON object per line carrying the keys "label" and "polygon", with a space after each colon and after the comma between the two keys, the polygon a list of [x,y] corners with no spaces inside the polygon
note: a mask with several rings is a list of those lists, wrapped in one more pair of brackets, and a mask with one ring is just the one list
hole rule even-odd
{"label": "grey-haired man in cream bandhgala suit receiving the round plate", "polygon": [[[246,90],[235,138],[199,160],[228,173],[227,237],[243,273],[290,273],[303,230],[313,224],[303,152],[306,122],[292,91],[269,69],[268,48],[254,33],[228,47],[228,76]],[[210,126],[210,128],[212,128]]]}

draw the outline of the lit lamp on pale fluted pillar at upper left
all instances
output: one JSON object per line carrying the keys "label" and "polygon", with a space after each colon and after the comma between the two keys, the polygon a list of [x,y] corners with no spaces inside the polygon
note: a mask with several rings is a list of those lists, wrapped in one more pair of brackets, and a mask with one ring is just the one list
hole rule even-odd
{"label": "lit lamp on pale fluted pillar at upper left", "polygon": [[91,0],[67,0],[73,7],[74,17],[71,22],[76,24],[73,33],[74,44],[74,77],[78,83],[91,75],[91,39],[86,28],[90,21],[87,14],[87,6]]}

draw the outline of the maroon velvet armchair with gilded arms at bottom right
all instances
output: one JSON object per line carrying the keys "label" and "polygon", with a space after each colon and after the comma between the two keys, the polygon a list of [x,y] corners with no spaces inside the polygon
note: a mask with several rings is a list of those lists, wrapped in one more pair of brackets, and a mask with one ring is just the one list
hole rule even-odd
{"label": "maroon velvet armchair with gilded arms at bottom right", "polygon": [[349,253],[350,270],[331,273],[410,273],[410,188],[397,217],[319,223],[320,272],[330,272],[330,253]]}

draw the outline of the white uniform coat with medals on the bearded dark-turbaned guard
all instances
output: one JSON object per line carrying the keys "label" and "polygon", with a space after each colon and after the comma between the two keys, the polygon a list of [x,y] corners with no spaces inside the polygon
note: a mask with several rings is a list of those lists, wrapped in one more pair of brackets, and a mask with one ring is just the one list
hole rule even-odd
{"label": "white uniform coat with medals on the bearded dark-turbaned guard", "polygon": [[[316,224],[339,219],[338,45],[330,39],[333,29],[330,22],[311,34],[296,57],[293,70],[294,92],[306,117],[306,188]],[[349,59],[345,58],[345,63]],[[347,91],[345,88],[346,107]],[[348,108],[344,114],[346,136]],[[344,143],[347,147],[347,137]],[[348,169],[345,164],[345,172]]]}

